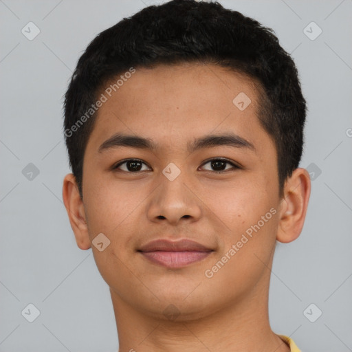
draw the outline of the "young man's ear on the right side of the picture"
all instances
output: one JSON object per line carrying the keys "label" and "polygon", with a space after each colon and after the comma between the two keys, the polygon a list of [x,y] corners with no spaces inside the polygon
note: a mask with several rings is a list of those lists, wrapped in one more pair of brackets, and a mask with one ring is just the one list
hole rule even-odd
{"label": "young man's ear on the right side of the picture", "polygon": [[296,168],[285,181],[276,235],[279,242],[292,242],[302,232],[310,193],[311,179],[308,171],[305,168]]}

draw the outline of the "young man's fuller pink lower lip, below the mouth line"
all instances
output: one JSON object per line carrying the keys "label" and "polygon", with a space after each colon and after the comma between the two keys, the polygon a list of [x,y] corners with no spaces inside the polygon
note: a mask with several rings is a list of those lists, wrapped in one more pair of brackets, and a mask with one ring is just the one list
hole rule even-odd
{"label": "young man's fuller pink lower lip, below the mouth line", "polygon": [[141,252],[147,259],[153,263],[163,265],[170,269],[177,269],[186,265],[201,261],[211,252]]}

